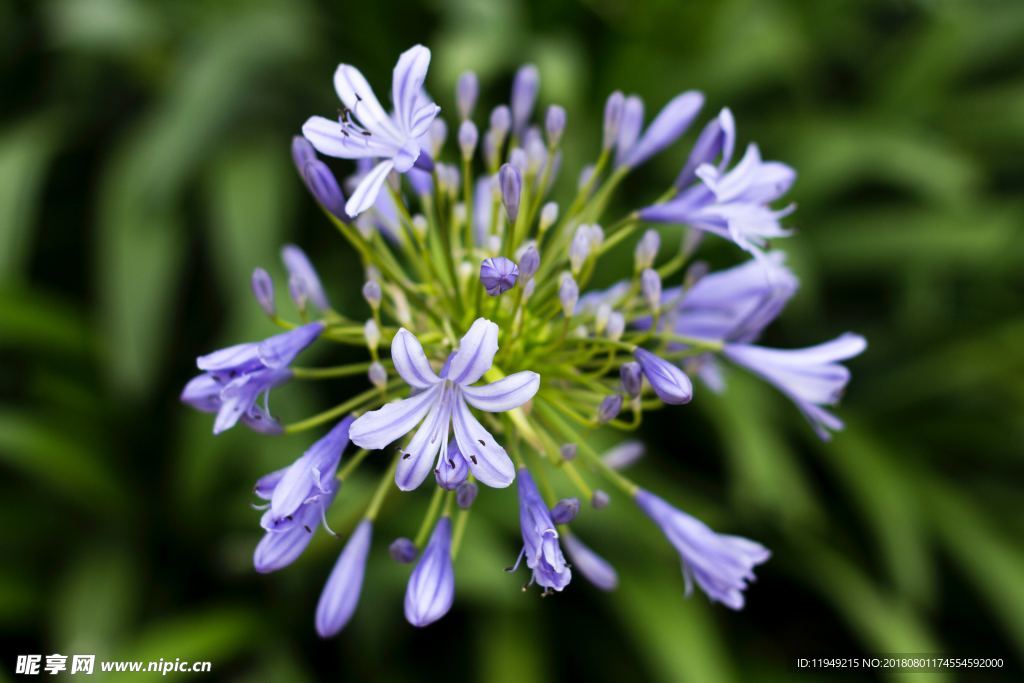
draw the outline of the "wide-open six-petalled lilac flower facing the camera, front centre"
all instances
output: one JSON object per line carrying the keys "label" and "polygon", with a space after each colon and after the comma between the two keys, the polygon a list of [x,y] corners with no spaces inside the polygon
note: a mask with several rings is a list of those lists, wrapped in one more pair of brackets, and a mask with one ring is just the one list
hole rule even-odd
{"label": "wide-open six-petalled lilac flower facing the camera, front centre", "polygon": [[430,473],[438,452],[446,455],[452,424],[459,451],[469,459],[473,476],[488,486],[509,485],[515,478],[512,461],[473,417],[469,405],[487,413],[511,411],[534,397],[541,376],[524,371],[492,384],[471,386],[490,369],[497,352],[498,326],[479,317],[438,377],[419,340],[404,328],[398,330],[391,342],[394,369],[418,393],[364,414],[349,430],[352,441],[364,449],[383,449],[422,421],[395,472],[398,487],[411,490]]}

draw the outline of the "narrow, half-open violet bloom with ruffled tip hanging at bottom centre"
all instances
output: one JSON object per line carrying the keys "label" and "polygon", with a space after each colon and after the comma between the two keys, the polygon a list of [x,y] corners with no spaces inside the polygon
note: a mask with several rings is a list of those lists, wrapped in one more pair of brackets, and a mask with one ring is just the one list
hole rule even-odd
{"label": "narrow, half-open violet bloom with ruffled tip hanging at bottom centre", "polygon": [[[526,566],[534,571],[530,585],[537,583],[545,590],[561,591],[568,586],[572,571],[558,545],[555,522],[526,468],[519,469],[517,485],[523,543],[519,560],[525,558]],[[519,565],[519,560],[516,561],[516,566]]]}

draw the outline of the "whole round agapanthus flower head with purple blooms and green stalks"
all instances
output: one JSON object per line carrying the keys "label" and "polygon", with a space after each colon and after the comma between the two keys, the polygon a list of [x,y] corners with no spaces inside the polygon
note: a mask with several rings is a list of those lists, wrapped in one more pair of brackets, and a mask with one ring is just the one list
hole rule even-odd
{"label": "whole round agapanthus flower head with purple blooms and green stalks", "polygon": [[[425,89],[429,63],[423,46],[400,55],[390,108],[357,69],[341,65],[338,115],[310,118],[293,140],[302,181],[362,261],[366,305],[336,310],[309,259],[287,246],[297,314],[279,312],[273,280],[257,268],[253,293],[284,331],[201,356],[203,374],[182,393],[216,414],[215,433],[241,423],[318,436],[256,482],[264,501],[256,569],[295,561],[318,526],[335,535],[330,506],[352,472],[376,460],[386,465],[361,520],[337,529],[347,541],[316,607],[324,637],[356,609],[388,495],[424,488],[432,493],[418,532],[388,544],[395,561],[411,565],[404,614],[414,626],[453,605],[474,500],[512,485],[518,510],[508,514],[518,512],[522,539],[509,543],[510,555],[520,548],[510,569],[525,563],[527,586],[549,594],[583,577],[613,590],[615,569],[590,547],[601,539],[585,544],[573,522],[631,500],[679,553],[687,593],[695,583],[711,600],[741,608],[769,551],[713,530],[626,476],[640,442],[607,454],[592,442],[597,430],[635,431],[665,405],[687,410],[691,375],[724,390],[723,366],[774,386],[820,437],[842,428],[828,408],[850,378],[841,361],[864,349],[863,338],[847,333],[801,349],[758,344],[798,288],[775,244],[791,236],[781,221],[793,206],[782,198],[796,172],[764,161],[753,143],[736,155],[736,125],[723,110],[696,131],[667,189],[638,190],[620,202],[634,209],[609,219],[624,178],[699,120],[700,93],[679,94],[646,125],[639,96],[611,93],[594,162],[574,198],[559,204],[551,195],[570,124],[557,104],[539,110],[538,70],[520,69],[510,102],[489,113],[478,111],[476,76],[463,75],[445,120]],[[351,176],[336,176],[324,158],[354,161]],[[739,264],[709,271],[695,260],[708,234],[732,243]],[[663,238],[678,251],[664,254]],[[592,287],[595,273],[607,281],[615,271],[608,252],[630,245],[632,271]],[[368,359],[297,366],[312,344],[360,347]],[[286,382],[354,376],[366,378],[366,390],[323,413],[283,423],[270,411],[269,393]],[[356,451],[346,456],[350,444]],[[563,484],[571,489],[557,490]]]}

